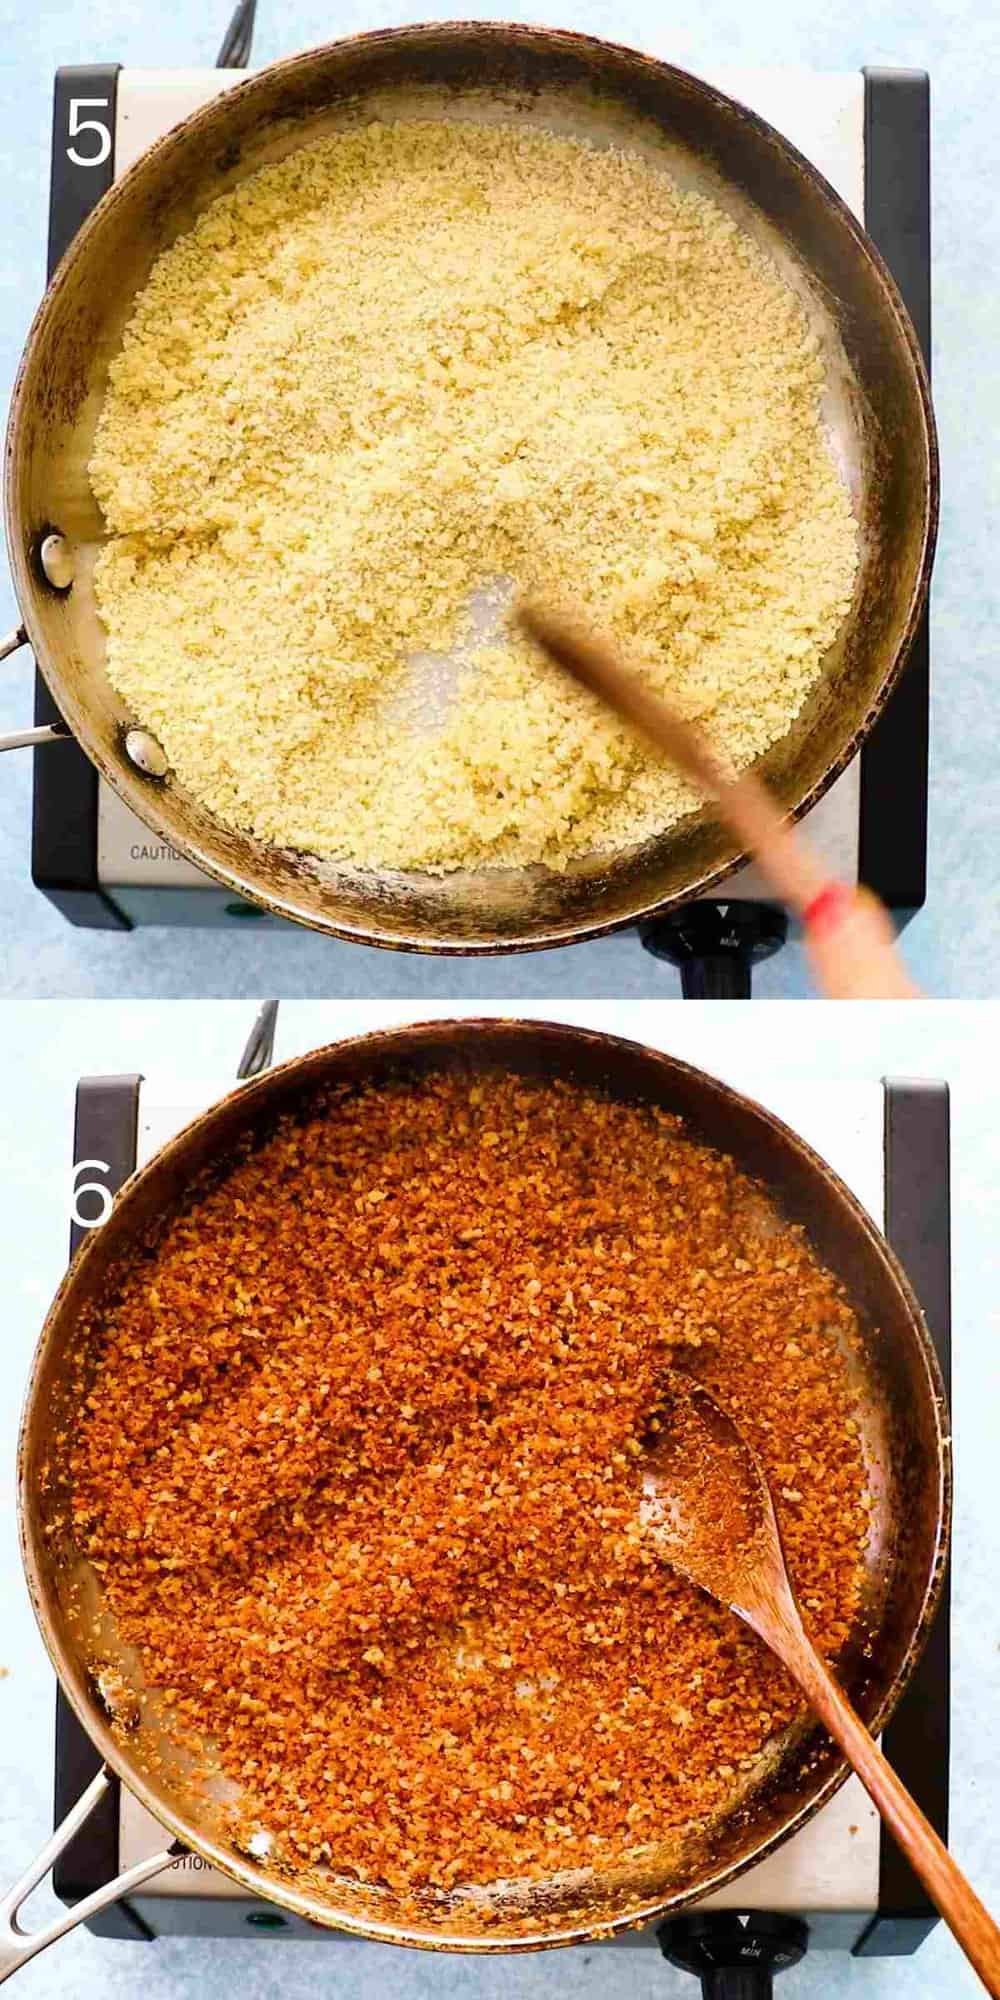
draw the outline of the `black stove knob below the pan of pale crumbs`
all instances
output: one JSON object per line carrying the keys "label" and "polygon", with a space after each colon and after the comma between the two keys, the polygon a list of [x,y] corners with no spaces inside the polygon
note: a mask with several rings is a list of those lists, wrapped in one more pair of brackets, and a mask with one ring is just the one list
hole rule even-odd
{"label": "black stove knob below the pan of pale crumbs", "polygon": [[686,902],[638,934],[678,966],[686,1000],[750,1000],[752,968],[782,948],[788,916],[772,902]]}

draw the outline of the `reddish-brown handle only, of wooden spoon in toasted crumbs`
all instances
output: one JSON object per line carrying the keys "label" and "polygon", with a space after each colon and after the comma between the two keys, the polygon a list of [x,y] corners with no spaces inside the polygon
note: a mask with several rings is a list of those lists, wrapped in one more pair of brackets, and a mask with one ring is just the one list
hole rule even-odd
{"label": "reddish-brown handle only, of wooden spoon in toasted crumbs", "polygon": [[968,1962],[976,1968],[986,1992],[998,2000],[1000,1928],[948,1854],[944,1840],[938,1838],[930,1820],[924,1818],[916,1800],[910,1798],[892,1764],[886,1764],[878,1744],[868,1734],[842,1688],[828,1674],[806,1634],[802,1634],[802,1640],[806,1650],[782,1646],[788,1670],[796,1676],[802,1692],[808,1694],[816,1714],[830,1730],[830,1736],[840,1744],[844,1756],[858,1772],[896,1844],[958,1938]]}

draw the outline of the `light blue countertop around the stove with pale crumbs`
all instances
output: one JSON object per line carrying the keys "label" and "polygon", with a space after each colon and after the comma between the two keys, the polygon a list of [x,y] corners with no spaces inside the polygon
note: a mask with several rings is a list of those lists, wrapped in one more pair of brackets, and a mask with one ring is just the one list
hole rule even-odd
{"label": "light blue countertop around the stove with pale crumbs", "polygon": [[[44,282],[50,92],[58,64],[120,60],[138,66],[212,64],[230,0],[24,0],[0,6],[4,88],[4,260],[0,266],[0,394]],[[254,60],[360,28],[418,20],[412,0],[340,0],[324,8],[260,0]],[[440,10],[444,12],[444,10]],[[460,12],[460,10],[456,10]],[[662,10],[624,0],[546,0],[546,6],[474,8],[484,16],[544,16],[624,42],[652,42],[692,70],[720,62],[870,62],[926,68],[934,102],[934,370],[942,436],[944,514],[932,626],[930,896],[906,936],[910,964],[928,992],[998,990],[1000,790],[996,766],[996,376],[1000,288],[1000,128],[994,80],[1000,14],[980,0],[700,0]],[[666,24],[664,24],[666,22]],[[0,582],[0,630],[14,604]],[[0,730],[30,716],[26,656],[0,672]],[[612,938],[520,960],[448,962],[370,952],[306,932],[72,930],[28,880],[30,758],[0,770],[0,990],[32,994],[398,994],[472,998],[502,994],[664,994],[676,990],[634,938]],[[758,974],[760,994],[802,994],[798,948]]]}

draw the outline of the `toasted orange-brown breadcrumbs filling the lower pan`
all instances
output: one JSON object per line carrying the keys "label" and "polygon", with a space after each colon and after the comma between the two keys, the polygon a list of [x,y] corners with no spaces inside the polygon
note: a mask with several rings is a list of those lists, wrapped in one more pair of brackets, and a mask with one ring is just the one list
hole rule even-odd
{"label": "toasted orange-brown breadcrumbs filling the lower pan", "polygon": [[616,1868],[730,1812],[806,1716],[642,1532],[664,1372],[760,1452],[836,1658],[856,1342],[802,1228],[664,1110],[334,1090],[186,1190],[82,1328],[74,1546],[250,1852],[396,1890]]}

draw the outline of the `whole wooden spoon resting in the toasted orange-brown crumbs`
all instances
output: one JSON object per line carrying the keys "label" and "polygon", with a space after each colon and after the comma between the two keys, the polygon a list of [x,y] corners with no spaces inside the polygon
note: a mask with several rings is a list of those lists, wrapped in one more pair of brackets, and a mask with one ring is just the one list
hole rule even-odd
{"label": "whole wooden spoon resting in the toasted orange-brown crumbs", "polygon": [[760,1460],[700,1384],[670,1378],[664,1388],[642,1458],[640,1524],[664,1562],[736,1612],[792,1674],[998,2000],[1000,1930],[820,1660]]}

